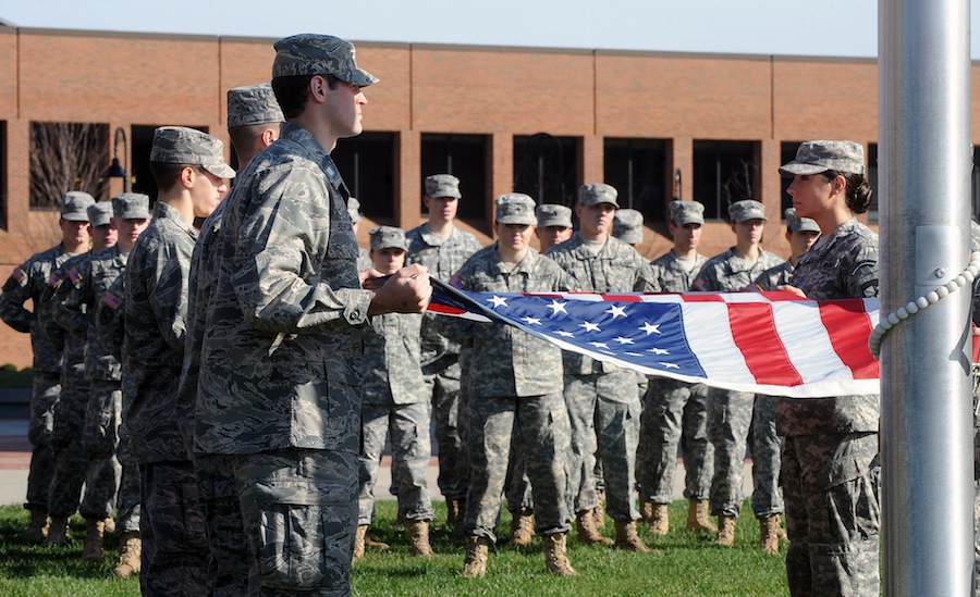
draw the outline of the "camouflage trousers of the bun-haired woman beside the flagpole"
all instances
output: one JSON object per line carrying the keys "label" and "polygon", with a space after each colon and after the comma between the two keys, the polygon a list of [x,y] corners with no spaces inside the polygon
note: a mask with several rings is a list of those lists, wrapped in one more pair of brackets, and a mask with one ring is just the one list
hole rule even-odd
{"label": "camouflage trousers of the bun-haired woman beside the flagpole", "polygon": [[786,437],[786,577],[794,596],[879,594],[877,433]]}

